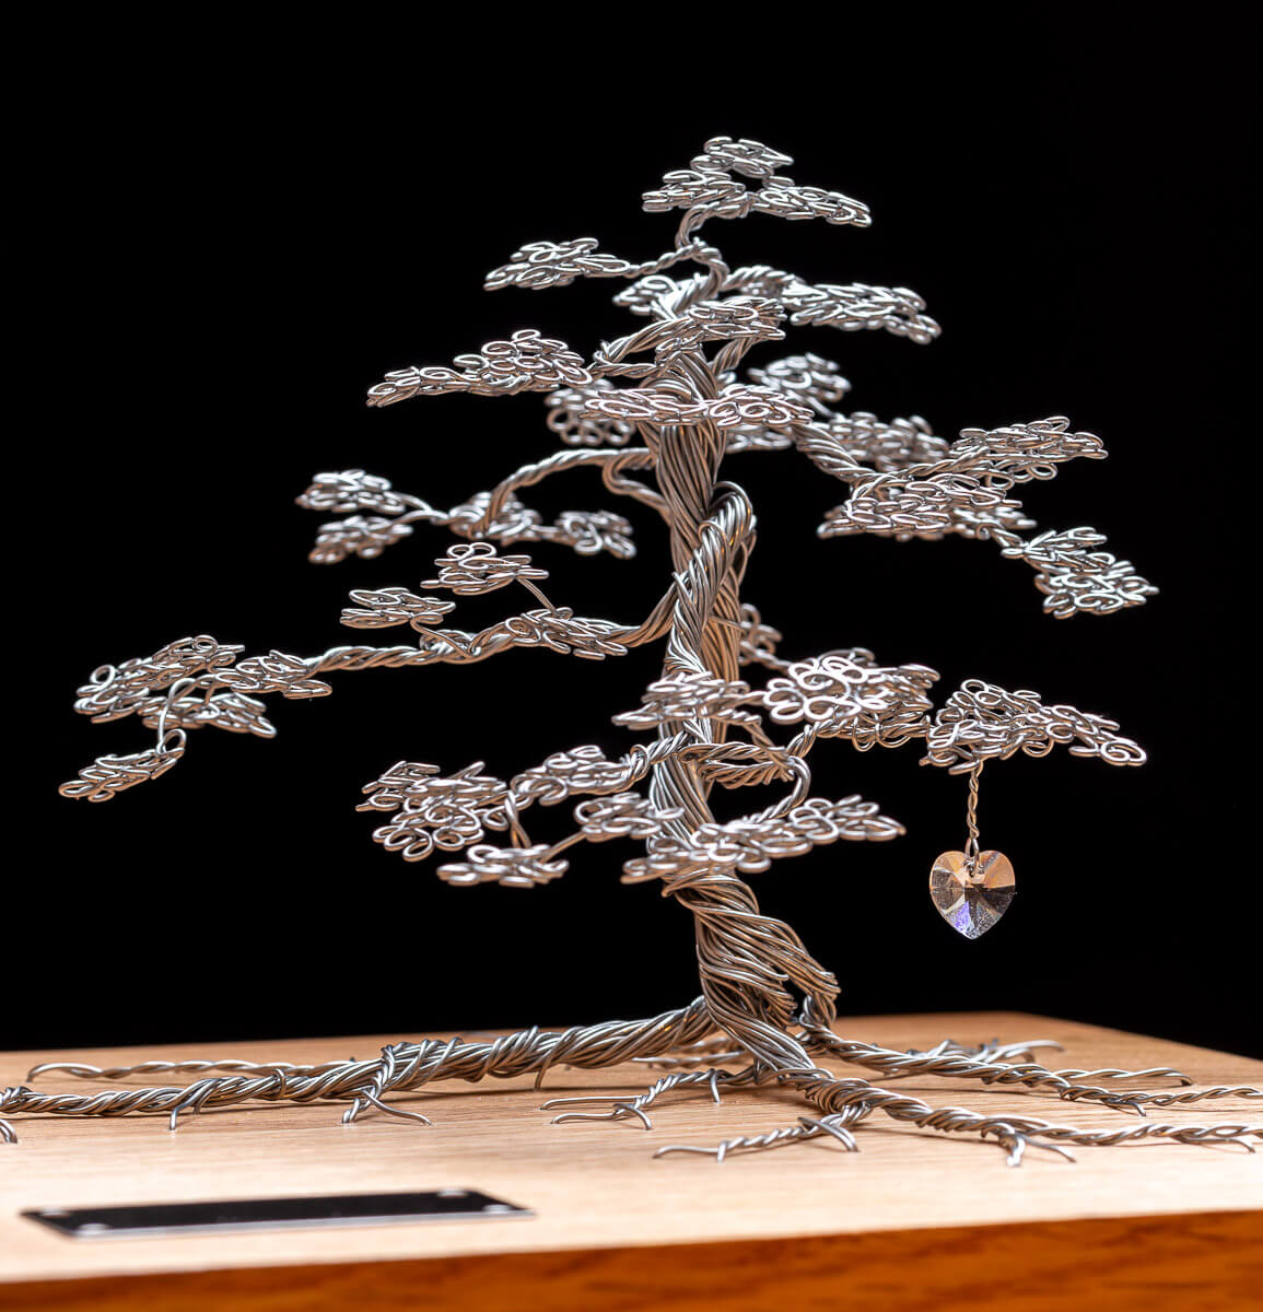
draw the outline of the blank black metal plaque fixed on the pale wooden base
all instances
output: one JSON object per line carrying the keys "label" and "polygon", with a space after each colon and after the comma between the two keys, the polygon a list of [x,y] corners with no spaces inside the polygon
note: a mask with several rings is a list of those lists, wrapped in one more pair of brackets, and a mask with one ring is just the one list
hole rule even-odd
{"label": "blank black metal plaque fixed on the pale wooden base", "polygon": [[419,1194],[238,1198],[209,1203],[140,1203],[125,1207],[38,1207],[22,1215],[71,1239],[142,1239],[159,1235],[219,1235],[225,1231],[492,1220],[533,1216],[534,1212],[481,1194],[475,1189],[439,1189]]}

